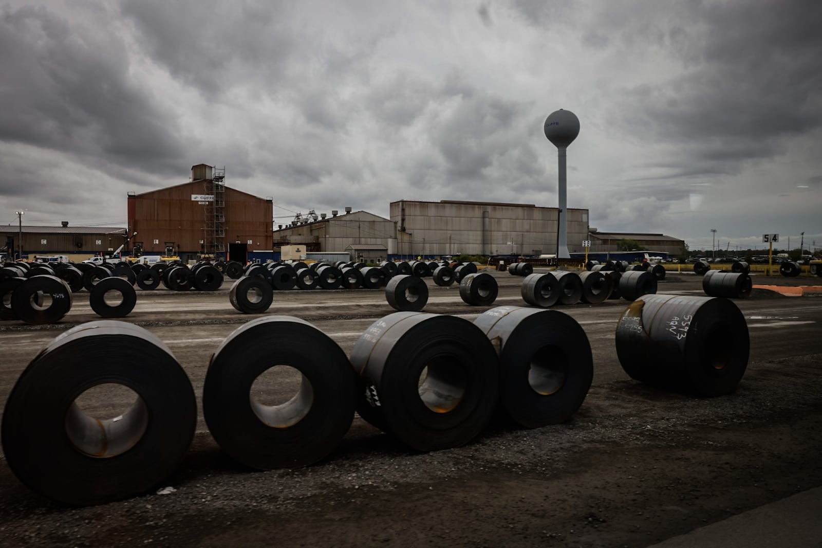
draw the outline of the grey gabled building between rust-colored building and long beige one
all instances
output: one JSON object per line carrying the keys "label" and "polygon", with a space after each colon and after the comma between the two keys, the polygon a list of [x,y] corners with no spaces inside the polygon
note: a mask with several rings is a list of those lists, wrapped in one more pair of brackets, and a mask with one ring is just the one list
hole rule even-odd
{"label": "grey gabled building between rust-colored building and long beige one", "polygon": [[338,210],[331,216],[311,211],[274,231],[275,251],[295,244],[304,245],[306,253],[348,252],[352,258],[377,262],[397,253],[397,228],[394,221],[350,207],[343,215]]}

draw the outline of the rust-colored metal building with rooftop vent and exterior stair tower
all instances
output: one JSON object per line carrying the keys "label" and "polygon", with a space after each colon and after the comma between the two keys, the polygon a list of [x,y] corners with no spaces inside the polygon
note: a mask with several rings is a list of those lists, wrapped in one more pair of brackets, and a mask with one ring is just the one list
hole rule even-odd
{"label": "rust-colored metal building with rooftop vent and exterior stair tower", "polygon": [[173,250],[182,260],[200,254],[245,262],[247,252],[272,248],[271,198],[224,184],[225,170],[192,166],[192,180],[147,193],[128,194],[128,234],[142,253]]}

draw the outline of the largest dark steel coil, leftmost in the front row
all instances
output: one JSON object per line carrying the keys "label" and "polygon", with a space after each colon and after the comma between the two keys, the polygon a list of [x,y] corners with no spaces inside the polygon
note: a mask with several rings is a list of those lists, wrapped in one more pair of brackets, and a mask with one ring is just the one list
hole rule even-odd
{"label": "largest dark steel coil, leftmost in the front row", "polygon": [[[110,384],[136,392],[122,402],[127,411],[86,415],[77,398]],[[142,327],[101,320],[56,337],[23,371],[3,411],[2,447],[15,476],[40,495],[103,504],[164,481],[196,418],[192,383],[168,347]]]}

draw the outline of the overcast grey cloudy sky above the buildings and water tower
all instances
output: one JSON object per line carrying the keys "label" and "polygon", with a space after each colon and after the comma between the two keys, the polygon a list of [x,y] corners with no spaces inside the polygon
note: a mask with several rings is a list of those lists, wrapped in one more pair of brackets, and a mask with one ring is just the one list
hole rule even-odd
{"label": "overcast grey cloudy sky above the buildings and water tower", "polygon": [[569,109],[568,206],[598,230],[822,248],[820,23],[818,0],[6,0],[0,223],[124,226],[128,191],[199,163],[282,224],[556,207],[543,122]]}

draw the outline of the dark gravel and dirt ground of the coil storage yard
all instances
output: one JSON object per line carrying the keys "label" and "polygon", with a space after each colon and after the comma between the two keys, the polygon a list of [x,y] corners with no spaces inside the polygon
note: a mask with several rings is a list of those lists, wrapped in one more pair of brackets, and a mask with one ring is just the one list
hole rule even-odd
{"label": "dark gravel and dirt ground of the coil storage yard", "polygon": [[[524,305],[521,278],[494,275],[495,305]],[[483,312],[456,286],[428,283],[426,312]],[[211,353],[255,317],[231,307],[228,287],[138,291],[124,320],[169,346],[198,399]],[[692,274],[669,273],[658,292],[703,295]],[[75,295],[58,325],[0,324],[0,404],[53,337],[99,319],[85,297]],[[822,485],[822,299],[756,292],[737,301],[750,364],[736,392],[710,399],[627,377],[614,347],[626,304],[561,308],[584,327],[594,360],[589,396],[564,425],[495,420],[464,448],[419,454],[355,418],[324,462],[258,472],[225,457],[200,416],[170,495],[68,509],[27,490],[0,461],[0,534],[8,546],[648,546]],[[306,319],[346,354],[392,312],[381,290],[279,292],[268,311]],[[100,412],[118,411],[119,397],[106,398],[94,402]]]}

